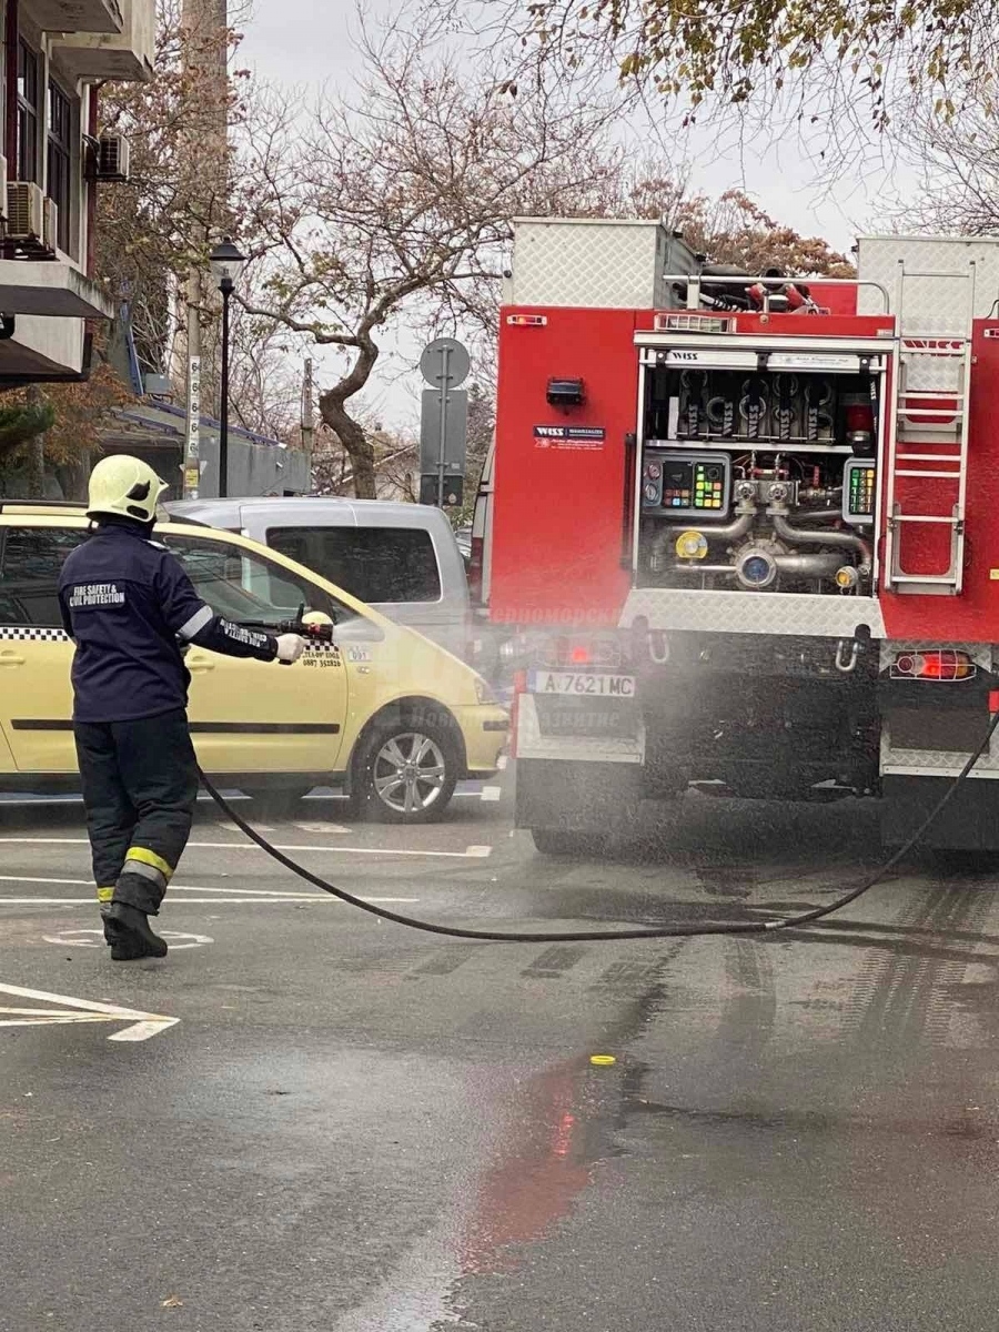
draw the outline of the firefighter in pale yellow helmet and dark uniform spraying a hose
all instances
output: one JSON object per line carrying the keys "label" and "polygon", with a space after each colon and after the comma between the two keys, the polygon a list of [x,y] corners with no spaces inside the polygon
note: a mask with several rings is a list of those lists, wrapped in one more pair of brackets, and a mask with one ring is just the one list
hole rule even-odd
{"label": "firefighter in pale yellow helmet and dark uniform spraying a hose", "polygon": [[67,558],[63,623],[76,645],[73,733],[104,938],[116,962],[163,958],[153,932],[194,814],[198,777],[181,645],[294,662],[297,634],[256,633],[206,606],[152,539],[166,489],[152,468],[104,458],[89,481],[93,534]]}

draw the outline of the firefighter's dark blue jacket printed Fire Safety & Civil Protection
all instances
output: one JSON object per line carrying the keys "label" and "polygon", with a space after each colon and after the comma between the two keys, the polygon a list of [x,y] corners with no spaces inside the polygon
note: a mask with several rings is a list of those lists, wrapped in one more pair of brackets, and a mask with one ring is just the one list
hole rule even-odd
{"label": "firefighter's dark blue jacket printed Fire Safety & Civil Protection", "polygon": [[77,722],[137,721],[185,707],[185,642],[229,657],[277,655],[269,634],[216,615],[176,557],[139,526],[101,526],[77,546],[63,565],[59,605],[76,642]]}

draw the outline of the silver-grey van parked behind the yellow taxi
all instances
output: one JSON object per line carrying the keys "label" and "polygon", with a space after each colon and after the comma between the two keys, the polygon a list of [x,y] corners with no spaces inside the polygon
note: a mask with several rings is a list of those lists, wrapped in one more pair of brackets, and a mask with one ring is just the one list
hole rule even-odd
{"label": "silver-grey van parked behind the yellow taxi", "polygon": [[252,537],[416,629],[470,655],[465,563],[441,509],[390,500],[170,500],[166,511]]}

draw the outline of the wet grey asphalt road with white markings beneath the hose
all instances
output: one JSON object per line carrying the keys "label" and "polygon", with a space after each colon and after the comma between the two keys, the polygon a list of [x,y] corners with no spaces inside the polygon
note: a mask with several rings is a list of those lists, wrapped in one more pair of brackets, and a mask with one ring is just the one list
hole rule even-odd
{"label": "wet grey asphalt road with white markings beneath the hose", "polygon": [[[611,927],[827,900],[875,817],[694,798],[629,863],[534,855],[509,791],[270,827],[396,910]],[[477,946],[313,894],[205,809],[161,916],[194,946],[113,966],[81,838],[0,805],[3,1332],[999,1323],[990,874],[916,859],[763,943]],[[67,1000],[180,1020],[109,1040],[137,1019]]]}

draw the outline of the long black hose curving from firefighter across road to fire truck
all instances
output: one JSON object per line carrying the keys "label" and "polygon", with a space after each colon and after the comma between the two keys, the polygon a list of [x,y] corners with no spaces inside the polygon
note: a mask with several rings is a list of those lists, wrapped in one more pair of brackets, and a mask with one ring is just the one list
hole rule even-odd
{"label": "long black hose curving from firefighter across road to fire truck", "polygon": [[386,911],[384,907],[376,907],[370,902],[365,902],[362,898],[356,898],[352,892],[345,888],[338,888],[333,883],[328,883],[321,879],[312,870],[306,870],[305,866],[298,864],[292,860],[284,852],[273,847],[266,838],[261,836],[256,829],[253,829],[236,810],[229,805],[229,802],[220,795],[214,789],[209,778],[201,773],[201,781],[204,782],[205,790],[216,802],[220,810],[226,814],[232,822],[240,829],[250,842],[256,842],[257,846],[266,851],[268,855],[273,856],[278,864],[284,864],[286,870],[297,874],[298,878],[305,879],[306,883],[312,883],[313,887],[321,888],[324,892],[329,892],[334,898],[340,898],[341,902],[349,903],[352,907],[360,907],[361,911],[366,911],[369,915],[378,916],[382,920],[392,920],[394,924],[408,926],[410,930],[424,930],[426,934],[444,934],[452,939],[482,939],[489,943],[597,943],[609,942],[613,943],[619,939],[675,939],[685,935],[698,935],[698,934],[750,934],[750,935],[763,935],[770,934],[774,930],[791,930],[798,926],[811,924],[813,920],[821,920],[823,916],[831,915],[834,911],[840,911],[850,902],[855,902],[863,892],[872,888],[875,883],[880,880],[895,868],[899,860],[904,859],[912,847],[918,846],[922,840],[926,830],[938,818],[940,811],[946,805],[950,803],[951,798],[962,786],[975,763],[988,749],[988,743],[992,739],[996,726],[999,726],[999,711],[992,717],[988,723],[988,730],[982,738],[982,743],[978,746],[975,753],[968,758],[964,767],[960,770],[958,777],[954,778],[951,785],[943,793],[936,805],[930,810],[927,817],[910,836],[910,839],[900,846],[898,851],[894,852],[874,874],[859,883],[850,892],[844,892],[835,902],[830,902],[825,907],[814,907],[811,911],[802,911],[799,915],[794,916],[778,916],[773,920],[727,920],[727,922],[707,922],[703,924],[670,924],[670,926],[647,926],[641,930],[565,930],[565,931],[509,931],[501,932],[498,930],[462,930],[458,926],[450,924],[433,924],[430,920],[416,920],[413,916],[400,915],[397,911]]}

